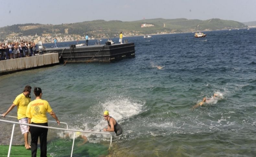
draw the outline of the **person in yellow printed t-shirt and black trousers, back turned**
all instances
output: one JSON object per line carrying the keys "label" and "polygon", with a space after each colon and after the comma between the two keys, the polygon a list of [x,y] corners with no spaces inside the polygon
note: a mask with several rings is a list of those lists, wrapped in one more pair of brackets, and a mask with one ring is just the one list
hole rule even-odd
{"label": "person in yellow printed t-shirt and black trousers, back turned", "polygon": [[[46,100],[42,100],[42,90],[39,87],[34,88],[36,99],[31,101],[27,107],[26,116],[29,124],[48,126],[46,113],[48,112],[60,125],[60,121],[52,111],[51,106]],[[47,153],[47,132],[48,128],[29,127],[31,134],[31,155],[36,157],[38,137],[40,137],[41,157],[46,157]]]}

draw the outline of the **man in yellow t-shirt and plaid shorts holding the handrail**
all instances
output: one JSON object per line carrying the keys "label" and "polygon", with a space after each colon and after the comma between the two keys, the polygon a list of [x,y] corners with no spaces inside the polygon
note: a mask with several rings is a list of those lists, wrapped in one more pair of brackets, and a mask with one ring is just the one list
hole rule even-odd
{"label": "man in yellow t-shirt and plaid shorts holding the handrail", "polygon": [[[13,101],[13,104],[9,107],[6,113],[3,114],[3,117],[5,117],[15,106],[17,106],[17,117],[19,122],[28,124],[28,118],[26,117],[26,110],[29,102],[31,101],[30,92],[31,92],[31,86],[26,85],[23,90],[23,93],[21,93],[15,98],[15,100]],[[26,149],[30,149],[31,147],[28,143],[29,127],[27,125],[20,125],[20,130],[21,130],[21,133],[24,135]]]}

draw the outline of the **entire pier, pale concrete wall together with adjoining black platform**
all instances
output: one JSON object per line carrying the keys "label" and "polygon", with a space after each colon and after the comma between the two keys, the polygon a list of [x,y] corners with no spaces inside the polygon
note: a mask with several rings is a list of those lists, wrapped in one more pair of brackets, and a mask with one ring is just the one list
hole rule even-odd
{"label": "entire pier, pale concrete wall together with adjoining black platform", "polygon": [[0,75],[60,62],[113,62],[135,57],[134,43],[46,48],[42,55],[0,61]]}

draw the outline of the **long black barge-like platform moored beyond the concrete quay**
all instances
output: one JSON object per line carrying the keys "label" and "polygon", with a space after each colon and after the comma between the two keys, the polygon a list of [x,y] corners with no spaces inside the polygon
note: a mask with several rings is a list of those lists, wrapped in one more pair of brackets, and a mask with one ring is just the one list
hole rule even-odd
{"label": "long black barge-like platform moored beyond the concrete quay", "polygon": [[58,52],[60,62],[113,62],[135,57],[134,43],[46,48],[43,53]]}

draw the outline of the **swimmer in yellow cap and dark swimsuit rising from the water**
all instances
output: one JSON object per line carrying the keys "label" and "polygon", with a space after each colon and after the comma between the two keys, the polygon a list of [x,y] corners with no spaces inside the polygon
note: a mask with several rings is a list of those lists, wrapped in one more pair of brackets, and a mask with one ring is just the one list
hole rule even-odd
{"label": "swimmer in yellow cap and dark swimsuit rising from the water", "polygon": [[103,112],[103,117],[105,120],[108,121],[108,128],[104,128],[104,131],[110,131],[113,132],[115,131],[116,136],[119,136],[122,134],[122,128],[121,126],[116,122],[116,120],[113,117],[109,116],[109,111],[104,111]]}

